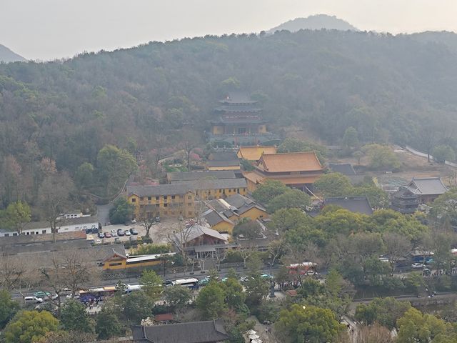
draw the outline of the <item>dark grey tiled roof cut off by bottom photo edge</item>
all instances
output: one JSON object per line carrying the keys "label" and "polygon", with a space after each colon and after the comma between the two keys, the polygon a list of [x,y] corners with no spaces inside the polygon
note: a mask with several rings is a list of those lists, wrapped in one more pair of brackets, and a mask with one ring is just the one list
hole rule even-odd
{"label": "dark grey tiled roof cut off by bottom photo edge", "polygon": [[220,320],[131,327],[134,342],[214,343],[229,339]]}

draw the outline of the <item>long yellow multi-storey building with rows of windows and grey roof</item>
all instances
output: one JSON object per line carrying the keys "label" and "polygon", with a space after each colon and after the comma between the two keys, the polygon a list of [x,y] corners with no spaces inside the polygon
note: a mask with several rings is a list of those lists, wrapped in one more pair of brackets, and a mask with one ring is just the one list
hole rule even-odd
{"label": "long yellow multi-storey building with rows of windows and grey roof", "polygon": [[196,217],[196,202],[246,194],[245,179],[209,179],[156,186],[127,186],[126,197],[136,217]]}

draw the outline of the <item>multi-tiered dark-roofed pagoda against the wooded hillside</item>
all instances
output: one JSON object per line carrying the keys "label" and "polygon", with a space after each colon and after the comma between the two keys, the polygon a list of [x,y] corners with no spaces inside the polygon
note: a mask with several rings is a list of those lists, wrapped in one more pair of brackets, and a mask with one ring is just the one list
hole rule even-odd
{"label": "multi-tiered dark-roofed pagoda against the wooded hillside", "polygon": [[229,94],[214,109],[209,141],[219,146],[272,143],[276,137],[267,131],[261,113],[261,106],[246,94]]}

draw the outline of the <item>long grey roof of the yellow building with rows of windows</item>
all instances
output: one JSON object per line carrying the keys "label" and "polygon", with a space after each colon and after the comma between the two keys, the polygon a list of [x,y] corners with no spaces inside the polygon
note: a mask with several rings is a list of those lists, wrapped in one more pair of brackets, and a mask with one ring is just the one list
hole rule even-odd
{"label": "long grey roof of the yellow building with rows of windows", "polygon": [[198,189],[226,189],[246,188],[246,179],[215,179],[189,182],[174,182],[173,184],[159,184],[157,186],[127,186],[127,194],[136,194],[139,197],[156,195],[186,194]]}

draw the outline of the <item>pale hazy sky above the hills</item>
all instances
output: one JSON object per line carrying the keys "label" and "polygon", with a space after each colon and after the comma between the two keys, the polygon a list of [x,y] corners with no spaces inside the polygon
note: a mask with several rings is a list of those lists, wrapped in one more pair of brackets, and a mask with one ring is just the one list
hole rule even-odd
{"label": "pale hazy sky above the hills", "polygon": [[0,44],[55,59],[148,41],[258,32],[330,14],[361,30],[457,31],[457,0],[0,0]]}

